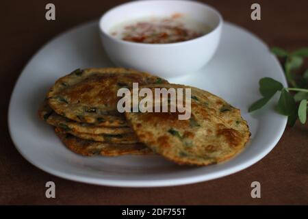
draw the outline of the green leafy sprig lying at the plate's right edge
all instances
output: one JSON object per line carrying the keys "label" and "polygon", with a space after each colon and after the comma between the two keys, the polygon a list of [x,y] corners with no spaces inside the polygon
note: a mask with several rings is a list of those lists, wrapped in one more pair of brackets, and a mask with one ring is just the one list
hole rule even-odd
{"label": "green leafy sprig lying at the plate's right edge", "polygon": [[[292,53],[288,53],[281,48],[274,47],[271,51],[278,57],[285,58],[285,77],[292,88],[284,88],[282,83],[270,77],[260,79],[259,92],[262,98],[255,101],[255,103],[248,108],[248,112],[259,110],[272,99],[274,94],[281,92],[277,104],[277,112],[288,116],[288,124],[291,126],[295,124],[297,118],[299,118],[300,123],[305,124],[307,120],[308,89],[303,88],[303,86],[307,86],[308,84],[308,69],[300,79],[300,85],[296,83],[296,79],[294,79],[292,75],[292,70],[296,70],[303,65],[304,57],[308,57],[308,48],[298,49]],[[293,96],[291,92],[296,93]],[[299,105],[298,102],[300,102]]]}

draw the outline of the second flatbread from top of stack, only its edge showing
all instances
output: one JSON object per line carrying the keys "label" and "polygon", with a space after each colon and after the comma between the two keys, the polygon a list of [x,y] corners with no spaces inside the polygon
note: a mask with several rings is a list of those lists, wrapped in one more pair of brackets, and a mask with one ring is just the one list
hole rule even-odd
{"label": "second flatbread from top of stack, only its edge showing", "polygon": [[116,135],[123,133],[133,133],[133,129],[131,129],[130,127],[105,127],[102,126],[101,124],[77,123],[73,120],[70,120],[68,118],[56,114],[51,109],[51,107],[49,107],[46,101],[42,104],[42,106],[38,110],[38,116],[42,120],[46,121],[49,125],[53,125],[55,127],[62,127],[63,129],[77,133],[88,133],[92,135],[100,135],[100,134]]}

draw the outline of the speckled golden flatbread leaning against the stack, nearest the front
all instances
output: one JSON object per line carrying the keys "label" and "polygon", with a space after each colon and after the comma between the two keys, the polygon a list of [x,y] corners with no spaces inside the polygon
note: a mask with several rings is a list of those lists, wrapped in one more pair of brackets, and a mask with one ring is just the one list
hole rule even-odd
{"label": "speckled golden flatbread leaning against the stack, nearest the front", "polygon": [[241,151],[249,140],[248,125],[240,110],[214,94],[176,84],[144,88],[150,88],[153,94],[155,88],[191,89],[188,120],[179,120],[179,112],[125,113],[140,142],[177,164],[216,164]]}

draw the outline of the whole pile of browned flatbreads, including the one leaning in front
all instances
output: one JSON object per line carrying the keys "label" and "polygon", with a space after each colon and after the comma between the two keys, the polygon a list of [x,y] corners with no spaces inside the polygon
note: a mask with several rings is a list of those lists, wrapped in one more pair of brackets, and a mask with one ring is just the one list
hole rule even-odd
{"label": "whole pile of browned flatbreads, including the one leaning in front", "polygon": [[[120,114],[118,89],[190,88],[191,116],[172,112]],[[38,114],[80,155],[156,153],[177,164],[216,164],[244,147],[250,132],[240,110],[204,90],[126,68],[77,69],[49,90]]]}

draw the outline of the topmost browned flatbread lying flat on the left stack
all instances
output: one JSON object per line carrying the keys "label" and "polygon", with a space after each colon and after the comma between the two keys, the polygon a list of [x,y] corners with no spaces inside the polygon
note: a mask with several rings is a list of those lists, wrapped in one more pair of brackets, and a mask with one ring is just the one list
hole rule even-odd
{"label": "topmost browned flatbread lying flat on the left stack", "polygon": [[55,82],[47,99],[57,113],[81,123],[97,123],[102,116],[119,116],[116,108],[120,88],[168,83],[159,77],[126,68],[75,70]]}

